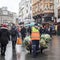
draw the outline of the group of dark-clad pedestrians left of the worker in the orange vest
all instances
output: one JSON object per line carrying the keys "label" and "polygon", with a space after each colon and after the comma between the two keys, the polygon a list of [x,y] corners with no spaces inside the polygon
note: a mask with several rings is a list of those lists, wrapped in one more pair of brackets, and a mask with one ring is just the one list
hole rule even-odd
{"label": "group of dark-clad pedestrians left of the worker in the orange vest", "polygon": [[15,45],[17,42],[17,37],[22,36],[22,40],[26,36],[26,29],[24,26],[17,26],[12,24],[12,26],[7,26],[6,24],[2,24],[0,27],[0,47],[1,47],[1,55],[5,56],[5,51],[8,42],[12,41],[12,49],[15,49]]}

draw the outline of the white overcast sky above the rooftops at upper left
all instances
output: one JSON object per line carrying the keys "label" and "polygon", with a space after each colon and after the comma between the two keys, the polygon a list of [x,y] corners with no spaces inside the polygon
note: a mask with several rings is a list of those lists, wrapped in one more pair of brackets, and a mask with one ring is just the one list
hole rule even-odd
{"label": "white overcast sky above the rooftops at upper left", "polygon": [[18,13],[20,1],[21,0],[0,0],[0,8],[7,6],[9,11]]}

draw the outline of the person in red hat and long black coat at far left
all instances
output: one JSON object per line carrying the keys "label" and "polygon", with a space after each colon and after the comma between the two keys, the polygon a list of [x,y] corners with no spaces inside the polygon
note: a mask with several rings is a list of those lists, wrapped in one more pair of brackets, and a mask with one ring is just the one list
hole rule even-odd
{"label": "person in red hat and long black coat at far left", "polygon": [[1,55],[5,56],[6,46],[10,40],[10,33],[6,24],[3,24],[0,29],[0,43],[1,43]]}

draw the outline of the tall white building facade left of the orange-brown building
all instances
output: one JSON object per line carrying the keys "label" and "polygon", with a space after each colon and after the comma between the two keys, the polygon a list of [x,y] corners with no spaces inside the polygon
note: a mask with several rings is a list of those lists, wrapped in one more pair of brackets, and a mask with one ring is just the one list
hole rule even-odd
{"label": "tall white building facade left of the orange-brown building", "polygon": [[29,23],[32,21],[32,0],[21,0],[19,3],[20,22]]}

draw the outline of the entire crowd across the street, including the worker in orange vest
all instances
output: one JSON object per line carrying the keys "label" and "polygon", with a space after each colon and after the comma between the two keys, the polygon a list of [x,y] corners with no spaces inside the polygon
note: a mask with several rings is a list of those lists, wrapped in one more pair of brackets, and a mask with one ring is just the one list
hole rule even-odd
{"label": "entire crowd across the street, including the worker in orange vest", "polygon": [[22,41],[26,37],[26,35],[31,36],[32,40],[32,55],[36,56],[36,51],[39,49],[39,40],[41,34],[50,34],[52,29],[47,26],[39,26],[38,24],[35,24],[33,27],[26,28],[24,24],[22,26],[16,26],[15,24],[12,24],[11,29],[8,28],[6,24],[2,24],[0,28],[0,45],[1,45],[1,55],[5,56],[6,46],[8,42],[12,41],[12,48],[15,49],[17,37],[22,37]]}

